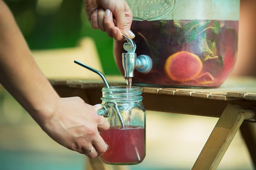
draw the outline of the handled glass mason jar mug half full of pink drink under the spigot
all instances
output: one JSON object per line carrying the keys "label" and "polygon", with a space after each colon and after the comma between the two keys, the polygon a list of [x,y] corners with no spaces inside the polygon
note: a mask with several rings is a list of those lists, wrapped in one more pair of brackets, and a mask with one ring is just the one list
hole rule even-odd
{"label": "handled glass mason jar mug half full of pink drink under the spigot", "polygon": [[100,159],[106,164],[132,165],[146,156],[146,110],[141,87],[112,86],[102,89],[102,106],[97,111],[110,123],[100,135],[109,148]]}

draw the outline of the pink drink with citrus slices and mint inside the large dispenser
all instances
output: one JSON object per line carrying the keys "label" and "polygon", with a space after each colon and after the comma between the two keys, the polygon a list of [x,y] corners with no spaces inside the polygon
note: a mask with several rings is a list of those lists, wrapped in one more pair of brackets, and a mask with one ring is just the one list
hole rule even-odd
{"label": "pink drink with citrus slices and mint inside the large dispenser", "polygon": [[[231,73],[238,52],[238,20],[133,21],[137,56],[153,61],[150,72],[134,71],[132,83],[162,87],[219,87]],[[123,41],[114,56],[122,68]]]}

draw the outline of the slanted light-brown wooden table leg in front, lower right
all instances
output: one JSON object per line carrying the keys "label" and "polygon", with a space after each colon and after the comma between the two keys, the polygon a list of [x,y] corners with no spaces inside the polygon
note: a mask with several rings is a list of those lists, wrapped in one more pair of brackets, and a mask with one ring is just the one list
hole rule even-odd
{"label": "slanted light-brown wooden table leg in front, lower right", "polygon": [[255,117],[253,110],[228,104],[202,149],[192,170],[215,170],[244,120]]}

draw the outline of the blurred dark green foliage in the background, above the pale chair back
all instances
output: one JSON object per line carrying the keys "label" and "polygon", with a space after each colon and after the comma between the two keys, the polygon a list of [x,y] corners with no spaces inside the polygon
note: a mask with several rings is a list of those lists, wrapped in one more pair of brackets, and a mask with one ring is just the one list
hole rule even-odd
{"label": "blurred dark green foliage in the background, above the pale chair back", "polygon": [[88,22],[83,0],[4,0],[11,9],[29,48],[77,46],[82,37],[96,43],[104,73],[121,75],[113,57],[113,40]]}

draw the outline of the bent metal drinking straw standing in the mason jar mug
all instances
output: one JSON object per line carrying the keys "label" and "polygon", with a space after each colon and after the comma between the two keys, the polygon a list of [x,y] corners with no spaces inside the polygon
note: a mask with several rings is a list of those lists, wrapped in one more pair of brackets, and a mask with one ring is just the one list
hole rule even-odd
{"label": "bent metal drinking straw standing in the mason jar mug", "polygon": [[[74,60],[74,63],[76,63],[76,64],[78,64],[78,65],[81,65],[82,67],[87,68],[88,70],[91,70],[92,72],[94,72],[94,73],[98,74],[99,76],[101,76],[101,78],[102,78],[102,80],[104,81],[106,87],[107,87],[108,89],[110,89],[106,77],[105,77],[104,74],[102,74],[99,70],[96,70],[96,69],[94,69],[94,68],[91,68],[89,65],[86,65],[86,64],[84,64],[84,63],[81,63],[80,61],[77,61],[77,60]],[[119,108],[117,107],[117,103],[116,103],[116,102],[115,102],[115,109],[117,110],[117,115],[118,115],[118,118],[119,118],[119,120],[120,120],[120,122],[121,122],[121,125],[122,125],[122,127],[124,127],[124,120],[123,120],[123,118],[122,118],[122,116],[121,116],[121,113],[120,113],[120,111],[119,111]]]}

